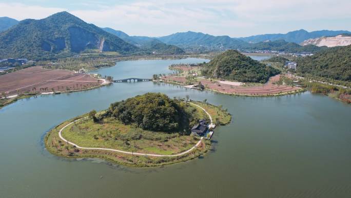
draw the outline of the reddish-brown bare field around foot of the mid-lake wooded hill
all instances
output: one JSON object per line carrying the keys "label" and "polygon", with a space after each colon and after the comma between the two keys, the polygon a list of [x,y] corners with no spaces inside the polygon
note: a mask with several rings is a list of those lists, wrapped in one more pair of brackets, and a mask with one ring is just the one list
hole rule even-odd
{"label": "reddish-brown bare field around foot of the mid-lake wooded hill", "polygon": [[[221,82],[213,81],[211,82],[209,79],[198,78],[197,80],[200,81],[206,88],[212,89],[217,92],[223,92],[227,94],[237,94],[237,95],[252,95],[252,96],[259,96],[259,95],[274,95],[274,94],[282,94],[288,92],[294,92],[299,90],[298,87],[292,87],[287,85],[276,85],[273,84],[277,82],[280,78],[280,75],[271,77],[269,81],[262,85],[255,85],[255,86],[245,86],[245,85],[230,85],[224,84]],[[169,82],[178,82],[185,84],[186,79],[183,76],[166,76],[162,77],[162,80],[169,81]]]}

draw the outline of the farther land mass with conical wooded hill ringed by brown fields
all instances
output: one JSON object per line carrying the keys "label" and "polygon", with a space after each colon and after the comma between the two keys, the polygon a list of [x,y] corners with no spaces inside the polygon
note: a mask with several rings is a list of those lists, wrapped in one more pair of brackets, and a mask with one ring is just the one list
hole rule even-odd
{"label": "farther land mass with conical wooded hill ringed by brown fields", "polygon": [[177,83],[189,88],[241,96],[296,94],[302,88],[283,83],[286,75],[277,68],[255,61],[237,50],[227,50],[208,63],[171,65],[177,72],[153,76],[155,81]]}

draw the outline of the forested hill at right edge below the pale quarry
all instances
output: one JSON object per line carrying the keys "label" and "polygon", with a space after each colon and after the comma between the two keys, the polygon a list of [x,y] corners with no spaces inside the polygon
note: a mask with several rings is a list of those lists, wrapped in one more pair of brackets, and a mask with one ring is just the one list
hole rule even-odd
{"label": "forested hill at right edge below the pale quarry", "polygon": [[330,48],[314,56],[300,58],[297,72],[351,82],[351,45]]}

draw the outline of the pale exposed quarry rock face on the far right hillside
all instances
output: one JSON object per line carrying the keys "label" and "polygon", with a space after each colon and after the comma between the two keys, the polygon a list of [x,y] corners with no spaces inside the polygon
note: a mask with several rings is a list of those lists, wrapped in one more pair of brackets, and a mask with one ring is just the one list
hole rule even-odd
{"label": "pale exposed quarry rock face on the far right hillside", "polygon": [[337,35],[336,37],[321,37],[317,39],[308,39],[301,43],[301,45],[317,45],[336,47],[351,45],[351,37],[346,35]]}

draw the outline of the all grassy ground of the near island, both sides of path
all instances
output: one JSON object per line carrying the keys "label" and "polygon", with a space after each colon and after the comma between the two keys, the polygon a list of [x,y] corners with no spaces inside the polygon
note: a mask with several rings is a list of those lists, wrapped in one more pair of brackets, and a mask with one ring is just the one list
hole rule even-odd
{"label": "all grassy ground of the near island, both sides of path", "polygon": [[[202,102],[194,103],[203,106],[213,119],[219,121],[218,123],[230,122],[230,115],[219,107]],[[193,120],[203,118],[209,120],[208,115],[199,107],[189,103],[183,103],[183,105],[186,106],[187,112],[192,113]],[[148,167],[196,158],[210,148],[210,141],[202,140],[198,148],[178,157],[150,157],[113,151],[80,150],[61,140],[58,133],[66,124],[85,116],[87,115],[68,120],[50,130],[45,137],[47,150],[64,157],[99,157],[119,164]],[[82,119],[66,127],[62,136],[81,147],[110,148],[162,155],[177,154],[189,150],[200,140],[199,137],[186,135],[184,132],[164,133],[142,130],[134,125],[125,125],[114,118],[104,118],[100,123],[94,123],[92,119]]]}

